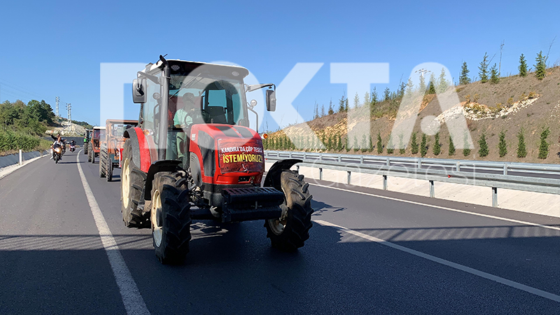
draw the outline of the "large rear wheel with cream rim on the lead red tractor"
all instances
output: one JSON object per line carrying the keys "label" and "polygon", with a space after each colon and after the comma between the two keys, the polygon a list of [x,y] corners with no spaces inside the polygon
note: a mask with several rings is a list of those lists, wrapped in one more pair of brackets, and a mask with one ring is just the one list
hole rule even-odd
{"label": "large rear wheel with cream rim on the lead red tractor", "polygon": [[132,144],[130,139],[125,141],[123,150],[123,168],[120,172],[120,200],[123,221],[127,228],[148,228],[148,219],[144,218],[138,209],[142,190],[146,185],[146,173],[134,165],[132,160]]}

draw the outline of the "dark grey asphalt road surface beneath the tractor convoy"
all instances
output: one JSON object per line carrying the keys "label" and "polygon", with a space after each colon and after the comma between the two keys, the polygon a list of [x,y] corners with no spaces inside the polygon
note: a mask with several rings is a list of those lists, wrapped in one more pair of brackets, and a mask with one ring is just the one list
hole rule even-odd
{"label": "dark grey asphalt road surface beneath the tractor convoy", "polygon": [[106,250],[77,154],[0,180],[1,314],[126,314],[109,253],[151,314],[560,314],[560,219],[314,181],[296,253],[262,221],[198,221],[185,265],[166,266],[150,230],[123,226],[118,171],[106,183],[80,154]]}

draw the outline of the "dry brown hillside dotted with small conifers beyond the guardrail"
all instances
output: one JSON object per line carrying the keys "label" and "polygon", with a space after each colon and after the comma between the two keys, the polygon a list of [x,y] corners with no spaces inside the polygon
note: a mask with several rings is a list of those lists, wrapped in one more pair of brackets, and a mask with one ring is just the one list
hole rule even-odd
{"label": "dry brown hillside dotted with small conifers beyond the guardrail", "polygon": [[[463,111],[467,118],[468,130],[475,144],[475,148],[467,156],[463,150],[457,149],[454,155],[449,155],[449,131],[447,125],[440,125],[441,153],[435,155],[433,148],[435,137],[427,136],[426,158],[454,158],[470,160],[497,160],[510,162],[560,162],[560,67],[547,69],[547,76],[543,80],[535,78],[533,73],[526,77],[510,76],[500,78],[499,83],[481,83],[477,81],[467,85],[454,87],[459,97],[455,111]],[[268,149],[293,149],[294,144],[288,141],[286,134],[296,144],[303,144],[307,151],[341,152],[379,154],[377,146],[377,135],[381,137],[381,155],[420,156],[421,153],[412,154],[410,142],[404,152],[395,149],[392,153],[387,151],[387,142],[395,117],[398,113],[402,95],[393,93],[391,99],[372,104],[369,111],[367,106],[358,107],[349,112],[339,112],[316,118],[307,124],[313,132],[321,139],[325,148],[318,149],[319,144],[311,143],[309,129],[303,124],[290,126],[284,130],[269,134],[265,140]],[[421,111],[418,113],[414,132],[417,134],[417,143],[421,144],[422,129],[421,121],[427,116],[435,116],[442,119],[450,115],[452,111],[442,114],[440,104],[435,94],[426,94],[422,99]],[[348,125],[348,115],[354,119]],[[358,118],[358,119],[356,119]],[[363,127],[363,123],[370,120],[370,140],[365,136],[363,139],[347,139],[346,130]],[[367,124],[365,124],[367,125]],[[540,136],[542,130],[549,129],[546,143],[549,145],[547,158],[538,158]],[[517,158],[518,138],[517,134],[523,130],[527,155],[525,158]],[[505,133],[505,144],[507,154],[500,158],[498,142],[500,132]],[[367,134],[367,132],[365,132]],[[485,157],[479,155],[479,137],[486,136],[489,154]],[[340,143],[339,143],[340,139]],[[348,141],[349,140],[349,141]],[[395,137],[393,141],[398,141]],[[454,139],[457,141],[462,139]],[[367,149],[354,150],[354,144],[367,147]],[[363,145],[365,144],[365,145]]]}

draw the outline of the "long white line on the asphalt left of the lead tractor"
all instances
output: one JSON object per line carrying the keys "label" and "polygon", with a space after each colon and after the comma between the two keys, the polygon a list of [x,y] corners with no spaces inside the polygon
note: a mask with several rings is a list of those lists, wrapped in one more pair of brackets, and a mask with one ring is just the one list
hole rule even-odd
{"label": "long white line on the asphalt left of the lead tractor", "polygon": [[95,200],[90,185],[85,179],[85,175],[83,174],[83,170],[80,165],[79,153],[81,152],[82,151],[80,150],[76,156],[76,164],[78,165],[78,172],[80,172],[80,177],[82,179],[83,190],[85,190],[87,202],[90,203],[90,209],[92,210],[95,225],[97,225],[99,237],[101,237],[103,247],[105,248],[105,252],[109,258],[109,263],[111,264],[111,269],[113,269],[113,274],[115,275],[115,280],[120,290],[120,296],[123,298],[127,314],[150,314],[148,307],[146,307],[146,302],[144,302],[142,295],[140,295],[136,282],[132,278],[132,274],[130,274],[130,270],[123,259],[123,255],[120,254],[117,242],[113,238],[111,230],[109,230],[109,225],[107,225],[101,209],[99,209],[99,205]]}

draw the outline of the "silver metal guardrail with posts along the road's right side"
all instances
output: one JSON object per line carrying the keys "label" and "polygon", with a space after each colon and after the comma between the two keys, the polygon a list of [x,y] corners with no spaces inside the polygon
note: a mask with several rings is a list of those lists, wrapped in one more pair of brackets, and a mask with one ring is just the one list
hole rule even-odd
{"label": "silver metal guardrail with posts along the road's right side", "polygon": [[349,184],[352,172],[381,175],[384,190],[388,176],[426,180],[430,197],[435,197],[435,181],[491,187],[493,207],[498,207],[498,188],[560,195],[560,165],[265,151],[267,160],[288,158],[303,160],[300,166],[318,168],[319,179],[323,179],[323,169],[347,172]]}

